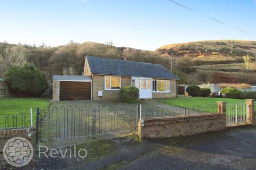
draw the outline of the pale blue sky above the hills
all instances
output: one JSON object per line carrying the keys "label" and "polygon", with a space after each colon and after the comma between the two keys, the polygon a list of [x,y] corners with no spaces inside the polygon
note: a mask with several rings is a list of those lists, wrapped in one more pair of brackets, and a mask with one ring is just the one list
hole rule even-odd
{"label": "pale blue sky above the hills", "polygon": [[256,40],[256,0],[174,1],[196,12],[169,0],[0,0],[0,42],[113,41],[155,50],[198,40]]}

